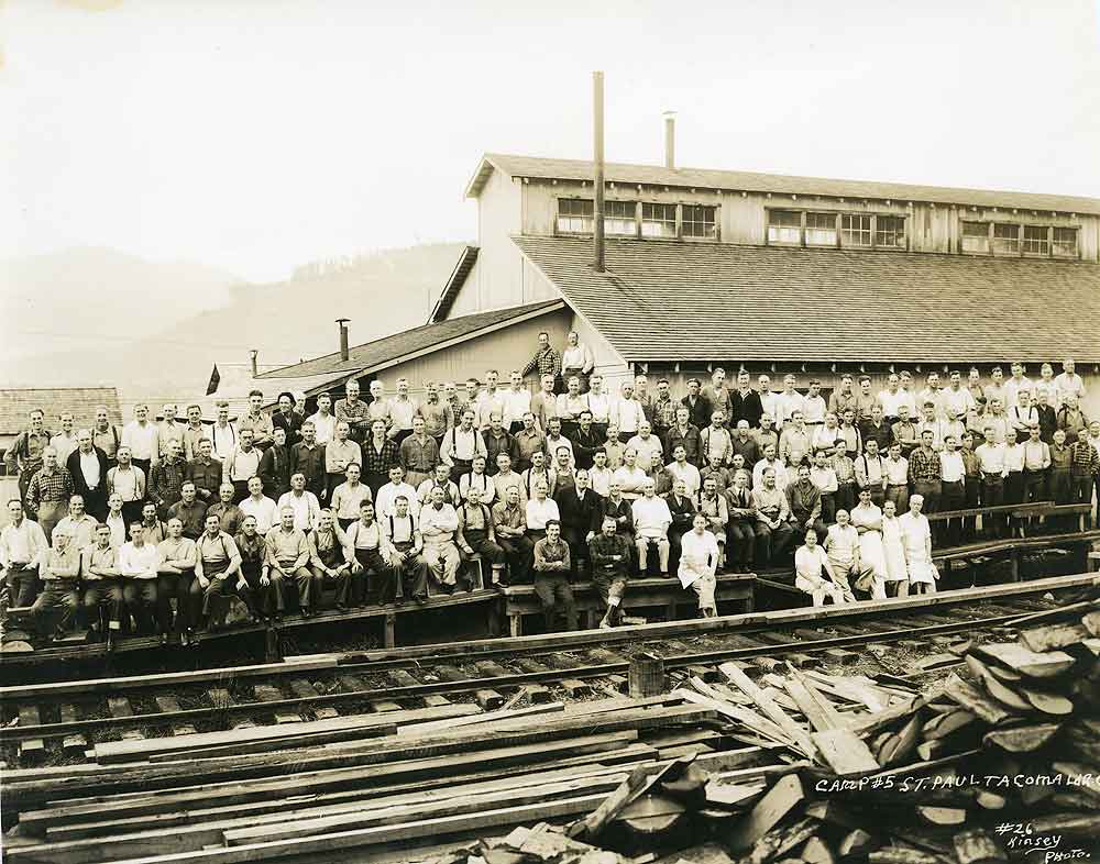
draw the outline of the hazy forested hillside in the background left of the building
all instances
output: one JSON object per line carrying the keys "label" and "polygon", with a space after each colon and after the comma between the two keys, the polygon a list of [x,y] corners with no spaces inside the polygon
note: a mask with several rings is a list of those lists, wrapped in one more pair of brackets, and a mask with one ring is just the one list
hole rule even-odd
{"label": "hazy forested hillside in the background left of the building", "polygon": [[[352,344],[427,319],[461,244],[431,244],[299,267],[243,284],[197,265],[70,250],[4,266],[8,386],[114,384],[130,394],[189,390],[215,363],[287,364],[334,351],[334,319]],[[7,336],[6,336],[7,343]]]}

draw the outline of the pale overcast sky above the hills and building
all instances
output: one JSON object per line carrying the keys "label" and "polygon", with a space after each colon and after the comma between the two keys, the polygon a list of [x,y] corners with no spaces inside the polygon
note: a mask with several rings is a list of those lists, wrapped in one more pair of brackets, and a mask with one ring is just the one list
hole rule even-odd
{"label": "pale overcast sky above the hills and building", "polygon": [[612,160],[672,108],[685,166],[1100,197],[1098,7],[9,0],[0,256],[266,280],[472,240],[483,152],[591,155],[596,68]]}

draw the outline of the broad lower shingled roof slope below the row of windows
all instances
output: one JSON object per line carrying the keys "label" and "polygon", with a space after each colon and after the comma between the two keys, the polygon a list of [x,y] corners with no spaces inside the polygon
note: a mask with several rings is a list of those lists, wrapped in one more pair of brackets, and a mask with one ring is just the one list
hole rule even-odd
{"label": "broad lower shingled roof slope below the row of windows", "polygon": [[1100,362],[1100,266],[513,237],[626,361]]}

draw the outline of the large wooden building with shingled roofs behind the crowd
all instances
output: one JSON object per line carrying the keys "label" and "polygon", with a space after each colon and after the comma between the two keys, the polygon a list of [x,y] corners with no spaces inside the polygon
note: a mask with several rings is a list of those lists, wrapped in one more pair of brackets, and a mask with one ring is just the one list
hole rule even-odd
{"label": "large wooden building with shingled roofs behind the crowd", "polygon": [[[609,164],[604,272],[593,165],[488,154],[466,188],[468,246],[422,328],[268,373],[311,392],[350,377],[481,377],[576,330],[613,381],[716,365],[845,370],[876,387],[1074,357],[1100,416],[1100,200]],[[1005,368],[1008,374],[1008,369]],[[778,389],[778,383],[777,383]]]}

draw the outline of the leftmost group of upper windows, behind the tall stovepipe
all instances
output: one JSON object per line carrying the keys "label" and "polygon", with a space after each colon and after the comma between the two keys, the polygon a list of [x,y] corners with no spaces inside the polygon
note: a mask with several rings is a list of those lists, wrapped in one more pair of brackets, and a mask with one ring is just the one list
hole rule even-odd
{"label": "leftmost group of upper windows, behind the tall stovepipe", "polygon": [[[558,233],[591,234],[594,210],[591,199],[558,199]],[[622,237],[717,240],[717,211],[706,204],[605,201],[604,233]]]}

